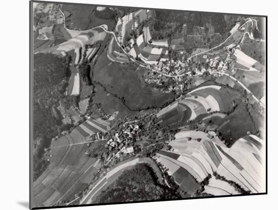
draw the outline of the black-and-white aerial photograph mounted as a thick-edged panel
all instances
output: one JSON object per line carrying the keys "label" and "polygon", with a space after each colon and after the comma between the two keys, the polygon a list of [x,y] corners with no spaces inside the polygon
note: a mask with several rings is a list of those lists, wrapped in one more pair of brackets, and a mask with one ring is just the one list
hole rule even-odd
{"label": "black-and-white aerial photograph mounted as a thick-edged panel", "polygon": [[266,193],[266,16],[32,1],[30,24],[32,208]]}

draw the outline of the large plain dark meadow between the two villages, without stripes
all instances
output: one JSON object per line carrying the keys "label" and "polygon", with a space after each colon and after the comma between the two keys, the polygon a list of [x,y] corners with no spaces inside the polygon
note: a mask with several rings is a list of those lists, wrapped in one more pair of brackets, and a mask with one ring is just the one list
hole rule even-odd
{"label": "large plain dark meadow between the two villages, without stripes", "polygon": [[148,88],[142,79],[142,72],[135,71],[136,67],[132,64],[107,65],[109,63],[105,54],[100,56],[99,62],[94,66],[94,81],[105,88],[107,95],[111,94],[120,99],[130,111],[161,107],[175,97],[172,93],[161,93],[159,90]]}

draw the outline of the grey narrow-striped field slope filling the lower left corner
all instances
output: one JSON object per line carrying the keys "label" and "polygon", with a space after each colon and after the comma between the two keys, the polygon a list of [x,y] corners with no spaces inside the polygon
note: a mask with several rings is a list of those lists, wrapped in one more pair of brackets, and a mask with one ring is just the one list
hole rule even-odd
{"label": "grey narrow-striped field slope filling the lower left corner", "polygon": [[[51,145],[50,165],[33,184],[36,207],[51,206],[59,201],[73,199],[98,172],[96,158],[88,157],[87,137],[106,133],[108,125],[95,119],[86,120],[70,134],[62,136]],[[92,147],[102,142],[92,143]]]}

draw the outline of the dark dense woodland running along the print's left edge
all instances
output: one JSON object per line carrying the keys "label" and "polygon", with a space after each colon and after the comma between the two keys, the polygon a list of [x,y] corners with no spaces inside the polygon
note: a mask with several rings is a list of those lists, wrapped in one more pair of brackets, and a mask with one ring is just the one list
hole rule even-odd
{"label": "dark dense woodland running along the print's left edge", "polygon": [[67,104],[64,92],[70,75],[70,58],[53,54],[34,55],[34,98],[33,98],[33,178],[44,171],[48,161],[44,160],[44,149],[51,139],[70,125],[62,125],[62,115],[57,107]]}

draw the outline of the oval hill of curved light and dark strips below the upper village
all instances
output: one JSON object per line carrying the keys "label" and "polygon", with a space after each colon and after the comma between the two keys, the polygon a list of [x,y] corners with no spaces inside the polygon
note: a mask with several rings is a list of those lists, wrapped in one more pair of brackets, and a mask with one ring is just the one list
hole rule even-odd
{"label": "oval hill of curved light and dark strips below the upper village", "polygon": [[187,122],[202,114],[215,111],[227,112],[234,108],[234,104],[240,100],[240,97],[238,92],[233,89],[216,85],[203,86],[163,108],[157,117],[163,124]]}

